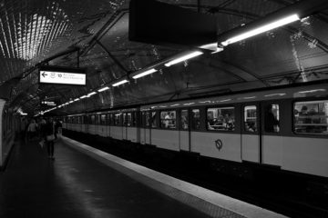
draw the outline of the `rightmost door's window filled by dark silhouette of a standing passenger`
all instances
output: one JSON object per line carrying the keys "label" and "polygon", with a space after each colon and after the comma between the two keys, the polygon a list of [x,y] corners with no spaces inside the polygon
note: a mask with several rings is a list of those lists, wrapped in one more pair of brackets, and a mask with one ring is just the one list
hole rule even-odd
{"label": "rightmost door's window filled by dark silhouette of a standing passenger", "polygon": [[279,133],[279,104],[269,104],[264,108],[264,130],[267,133]]}

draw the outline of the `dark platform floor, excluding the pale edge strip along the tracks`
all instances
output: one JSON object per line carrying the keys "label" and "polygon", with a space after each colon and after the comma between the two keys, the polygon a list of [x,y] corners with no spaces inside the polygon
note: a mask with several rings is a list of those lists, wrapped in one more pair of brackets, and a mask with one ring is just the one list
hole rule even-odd
{"label": "dark platform floor, excluding the pale edge strip along the tracks", "polygon": [[209,217],[61,142],[55,154],[15,144],[0,173],[0,217]]}

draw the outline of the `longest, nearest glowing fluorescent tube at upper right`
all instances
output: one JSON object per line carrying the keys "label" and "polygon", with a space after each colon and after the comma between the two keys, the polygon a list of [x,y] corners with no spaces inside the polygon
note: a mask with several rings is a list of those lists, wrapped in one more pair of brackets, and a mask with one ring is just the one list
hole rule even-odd
{"label": "longest, nearest glowing fluorescent tube at upper right", "polygon": [[244,34],[233,36],[230,39],[227,39],[226,41],[221,42],[220,44],[223,46],[227,46],[227,45],[239,42],[241,40],[244,40],[246,38],[250,38],[251,36],[259,35],[261,33],[267,32],[269,30],[275,29],[282,25],[288,25],[297,20],[300,20],[300,17],[298,15],[296,15],[296,14],[289,15],[289,16],[283,17],[282,19],[279,19],[277,21],[273,21],[272,23],[270,23],[268,25],[262,25],[261,27],[253,29],[251,31],[248,31]]}

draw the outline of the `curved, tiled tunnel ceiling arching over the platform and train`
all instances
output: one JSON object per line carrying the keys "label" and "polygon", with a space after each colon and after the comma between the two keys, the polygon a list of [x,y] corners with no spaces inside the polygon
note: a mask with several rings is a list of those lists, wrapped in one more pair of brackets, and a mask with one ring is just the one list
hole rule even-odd
{"label": "curved, tiled tunnel ceiling arching over the platform and train", "polygon": [[[292,0],[162,1],[215,15],[218,35],[292,5]],[[328,11],[150,74],[53,111],[144,104],[327,78]],[[77,52],[78,50],[78,52]],[[128,41],[128,1],[0,0],[0,87],[24,112],[63,104],[183,48]],[[56,55],[62,54],[62,55]],[[79,66],[87,86],[38,84],[37,65]]]}

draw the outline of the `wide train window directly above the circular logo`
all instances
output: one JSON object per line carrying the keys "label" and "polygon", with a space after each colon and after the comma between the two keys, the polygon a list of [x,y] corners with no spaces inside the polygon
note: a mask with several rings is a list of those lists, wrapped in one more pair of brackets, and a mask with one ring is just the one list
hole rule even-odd
{"label": "wide train window directly above the circular logo", "polygon": [[207,110],[207,129],[218,131],[234,131],[234,107],[209,108]]}

